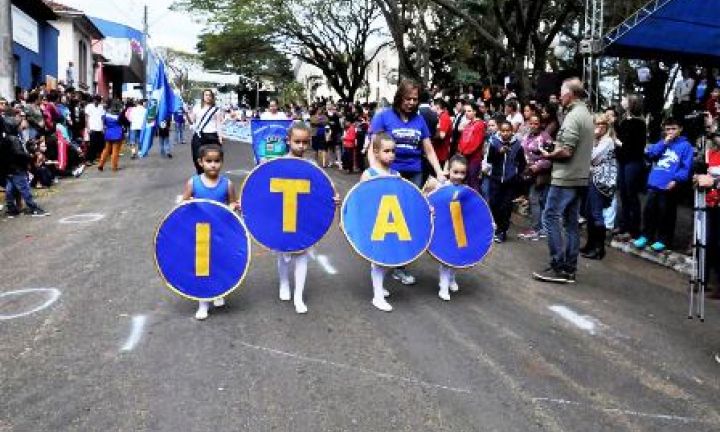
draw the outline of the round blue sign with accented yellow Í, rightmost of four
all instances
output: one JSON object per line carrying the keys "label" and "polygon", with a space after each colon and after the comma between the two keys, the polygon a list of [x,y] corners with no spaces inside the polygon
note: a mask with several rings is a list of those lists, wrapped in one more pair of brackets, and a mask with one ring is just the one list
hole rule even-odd
{"label": "round blue sign with accented yellow \u00cd, rightmost of four", "polygon": [[428,200],[435,218],[430,255],[456,268],[482,261],[492,246],[493,218],[480,194],[465,185],[447,185]]}

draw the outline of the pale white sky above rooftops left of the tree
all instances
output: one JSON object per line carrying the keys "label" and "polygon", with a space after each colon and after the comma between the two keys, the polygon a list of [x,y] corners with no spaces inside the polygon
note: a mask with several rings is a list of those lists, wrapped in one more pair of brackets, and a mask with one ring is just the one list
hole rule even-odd
{"label": "pale white sky above rooftops left of the tree", "polygon": [[188,13],[169,10],[173,0],[56,0],[88,16],[129,25],[142,31],[143,6],[148,5],[151,46],[197,52],[197,36],[203,25]]}

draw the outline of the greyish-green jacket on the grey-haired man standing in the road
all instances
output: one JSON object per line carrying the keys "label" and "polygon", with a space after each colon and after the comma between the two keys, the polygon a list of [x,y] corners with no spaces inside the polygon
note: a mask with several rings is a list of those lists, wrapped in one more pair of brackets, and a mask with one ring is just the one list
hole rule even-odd
{"label": "greyish-green jacket on the grey-haired man standing in the road", "polygon": [[566,110],[555,146],[570,147],[573,155],[568,159],[553,160],[553,186],[587,186],[590,177],[590,160],[595,141],[595,123],[585,102],[576,100]]}

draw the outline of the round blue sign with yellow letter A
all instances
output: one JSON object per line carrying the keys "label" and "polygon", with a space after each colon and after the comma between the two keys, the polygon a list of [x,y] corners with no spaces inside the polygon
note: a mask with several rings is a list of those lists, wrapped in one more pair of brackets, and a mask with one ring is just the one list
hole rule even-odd
{"label": "round blue sign with yellow letter A", "polygon": [[345,197],[340,218],[355,251],[383,266],[414,261],[432,237],[428,201],[401,177],[375,177],[355,185]]}

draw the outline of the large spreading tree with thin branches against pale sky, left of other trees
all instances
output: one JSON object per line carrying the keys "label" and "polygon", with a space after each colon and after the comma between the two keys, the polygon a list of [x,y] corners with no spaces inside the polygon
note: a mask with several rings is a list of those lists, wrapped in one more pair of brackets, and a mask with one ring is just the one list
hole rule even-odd
{"label": "large spreading tree with thin branches against pale sky, left of other trees", "polygon": [[[176,7],[206,14],[206,38],[228,44],[246,61],[272,47],[316,66],[345,100],[354,99],[386,46],[367,49],[381,36],[372,0],[179,0]],[[254,52],[257,47],[263,50]]]}

